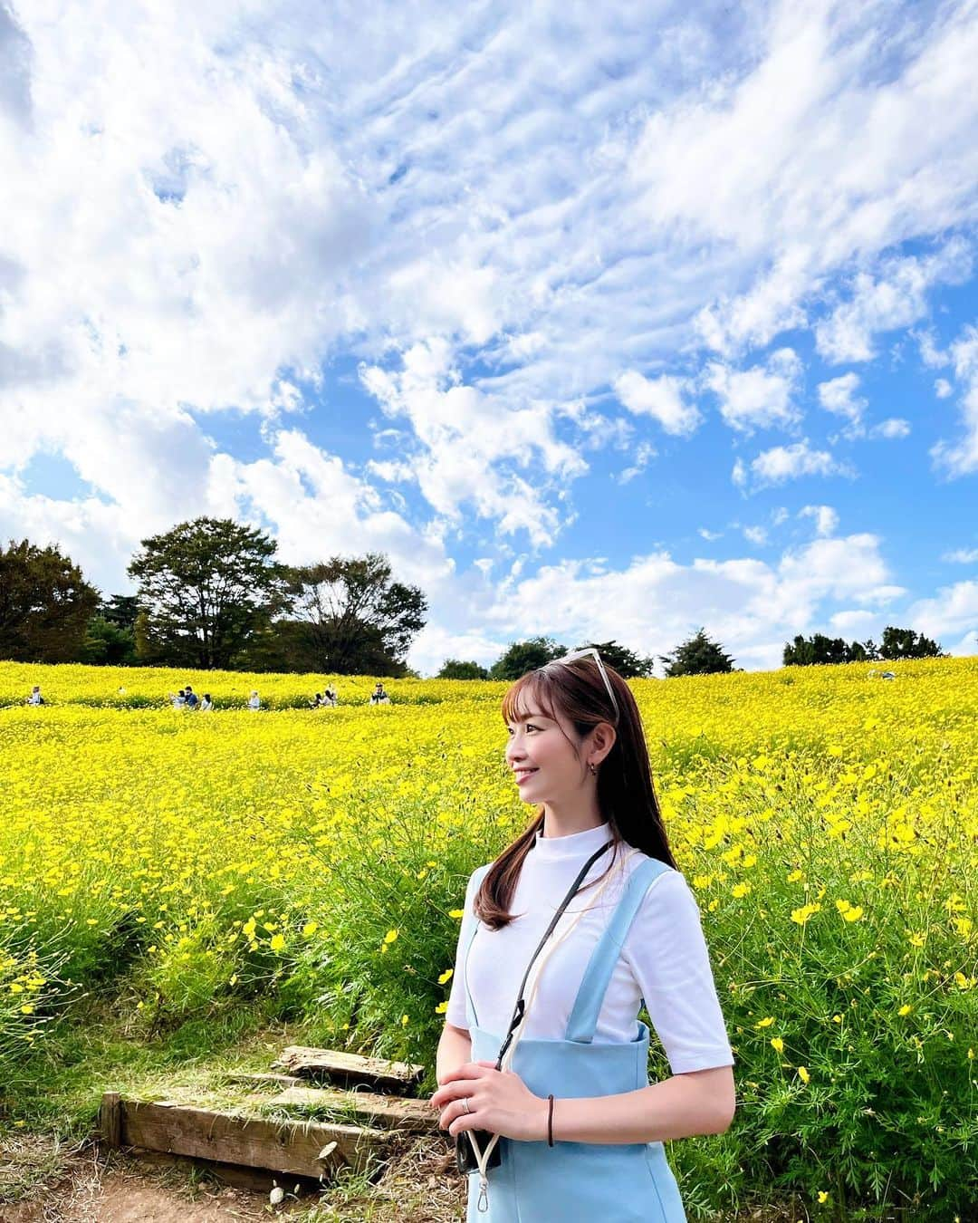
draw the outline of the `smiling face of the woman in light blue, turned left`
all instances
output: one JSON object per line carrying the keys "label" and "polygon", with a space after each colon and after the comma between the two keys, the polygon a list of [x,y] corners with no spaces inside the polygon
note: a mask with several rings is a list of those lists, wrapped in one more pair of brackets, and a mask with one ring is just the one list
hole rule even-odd
{"label": "smiling face of the woman in light blue, turned left", "polygon": [[579,740],[562,719],[544,714],[535,701],[509,723],[509,735],[506,766],[523,802],[557,802],[586,784],[587,739]]}

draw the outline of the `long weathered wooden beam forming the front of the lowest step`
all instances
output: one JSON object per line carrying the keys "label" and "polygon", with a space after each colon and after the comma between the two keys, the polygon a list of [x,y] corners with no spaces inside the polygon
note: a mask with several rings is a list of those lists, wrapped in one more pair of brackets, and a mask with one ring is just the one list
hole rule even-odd
{"label": "long weathered wooden beam forming the front of the lowest step", "polygon": [[328,1123],[267,1121],[188,1104],[122,1101],[122,1144],[298,1177],[362,1170],[381,1155],[389,1130]]}

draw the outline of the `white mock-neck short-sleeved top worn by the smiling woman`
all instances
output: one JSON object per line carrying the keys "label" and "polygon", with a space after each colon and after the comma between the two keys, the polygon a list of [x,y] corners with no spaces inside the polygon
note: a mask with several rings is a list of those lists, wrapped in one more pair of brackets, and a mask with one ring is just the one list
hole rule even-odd
{"label": "white mock-neck short-sleeved top worn by the smiling woman", "polygon": [[[507,1031],[529,958],[581,867],[608,840],[606,824],[570,837],[538,834],[510,905],[518,916],[502,929],[493,931],[477,921],[474,874],[469,877],[445,1014],[449,1024],[469,1026],[465,994],[468,981],[479,1027],[500,1036]],[[590,867],[586,884],[604,873],[611,854],[609,850]],[[622,866],[619,855],[615,876],[595,905],[588,892],[578,893],[568,905],[551,938],[560,934],[568,915],[582,907],[587,911],[544,966],[524,1020],[524,1038],[566,1038],[590,954],[621,899],[625,882],[643,856],[638,854]],[[674,1074],[734,1065],[699,907],[678,871],[660,874],[642,900],[608,986],[595,1042],[634,1040],[643,999]]]}

